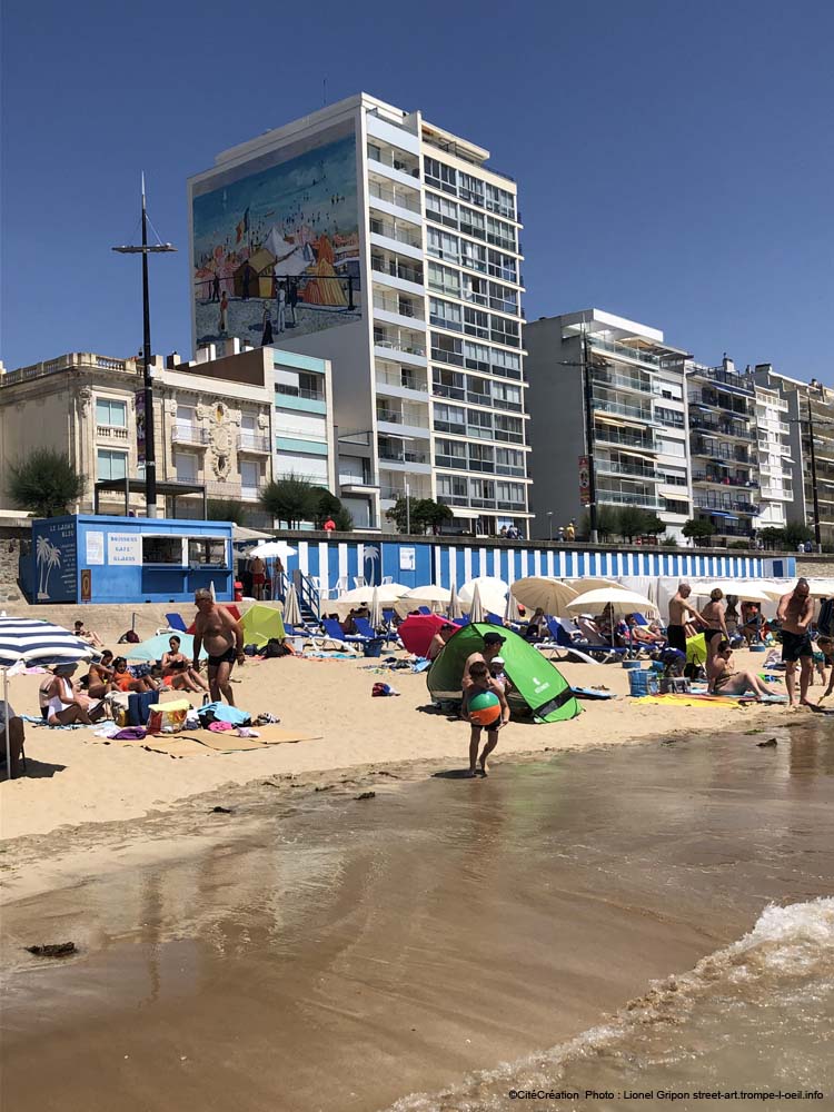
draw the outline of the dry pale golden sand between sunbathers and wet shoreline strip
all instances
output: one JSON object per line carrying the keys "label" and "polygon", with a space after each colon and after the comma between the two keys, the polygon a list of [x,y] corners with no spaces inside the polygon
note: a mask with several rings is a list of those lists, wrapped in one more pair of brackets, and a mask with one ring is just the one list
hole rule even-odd
{"label": "dry pale golden sand between sunbathers and wet shoreline strip", "polygon": [[[123,628],[125,618],[121,618]],[[102,629],[109,637],[111,631]],[[118,652],[118,646],[108,639]],[[397,654],[404,657],[404,653]],[[762,656],[738,653],[738,667],[758,667]],[[522,753],[626,745],[681,732],[717,734],[742,723],[783,723],[807,712],[784,707],[641,705],[627,696],[628,677],[618,665],[558,664],[576,685],[607,687],[619,697],[584,702],[570,722],[513,723],[502,733],[496,761]],[[40,676],[16,676],[10,699],[18,714],[38,714]],[[0,836],[47,834],[63,826],[138,818],[168,810],[188,796],[270,775],[324,772],[389,762],[465,763],[464,723],[431,713],[425,675],[375,671],[375,662],[269,659],[235,669],[238,705],[257,716],[269,712],[281,726],[315,739],[242,753],[197,753],[172,758],[136,744],[106,744],[87,728],[27,726],[29,774],[2,785]],[[399,697],[371,698],[376,681]],[[784,688],[777,688],[784,689]],[[822,693],[821,687],[812,693]],[[173,697],[172,695],[166,696]],[[199,704],[199,699],[197,699]]]}

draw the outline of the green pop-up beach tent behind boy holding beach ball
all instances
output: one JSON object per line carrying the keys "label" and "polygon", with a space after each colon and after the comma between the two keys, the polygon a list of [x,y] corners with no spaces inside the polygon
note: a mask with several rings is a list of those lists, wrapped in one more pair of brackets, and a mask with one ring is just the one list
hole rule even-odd
{"label": "green pop-up beach tent behind boy holding beach ball", "polygon": [[512,629],[480,623],[464,626],[456,633],[428,669],[426,683],[433,698],[461,697],[466,658],[484,647],[484,634],[487,633],[499,633],[505,638],[500,655],[504,671],[513,684],[507,696],[510,709],[527,709],[537,722],[564,722],[576,717],[579,704],[557,667]]}

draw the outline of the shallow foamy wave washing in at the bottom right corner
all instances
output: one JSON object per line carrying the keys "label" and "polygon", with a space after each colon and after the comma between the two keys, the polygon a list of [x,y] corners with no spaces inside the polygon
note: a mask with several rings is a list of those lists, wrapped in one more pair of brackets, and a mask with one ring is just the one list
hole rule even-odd
{"label": "shallow foamy wave washing in at the bottom right corner", "polygon": [[[513,1090],[556,1092],[544,1102],[554,1112],[622,1108],[619,1093],[635,1086],[790,1086],[830,1099],[833,1039],[834,898],[771,904],[744,937],[691,972],[653,984],[609,1022],[471,1075],[455,1090],[411,1094],[389,1112],[506,1110]],[[589,1088],[615,1099],[586,1101]],[[691,1106],[686,1099],[675,1103]]]}

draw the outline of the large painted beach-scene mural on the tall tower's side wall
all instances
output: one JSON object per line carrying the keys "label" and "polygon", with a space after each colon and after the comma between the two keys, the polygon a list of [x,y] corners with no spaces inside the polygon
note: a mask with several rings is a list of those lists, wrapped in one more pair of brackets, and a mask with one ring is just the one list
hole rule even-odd
{"label": "large painted beach-scene mural on the tall tower's side wall", "polygon": [[193,197],[198,345],[359,319],[356,172],[351,135]]}

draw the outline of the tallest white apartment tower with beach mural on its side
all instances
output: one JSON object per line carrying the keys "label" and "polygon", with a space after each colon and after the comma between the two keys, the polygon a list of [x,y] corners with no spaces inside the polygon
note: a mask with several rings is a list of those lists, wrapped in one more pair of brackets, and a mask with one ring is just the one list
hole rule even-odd
{"label": "tallest white apartment tower with beach mural on its side", "polygon": [[330,360],[359,528],[408,492],[453,529],[529,522],[516,183],[489,151],[359,93],[189,180],[195,350]]}

